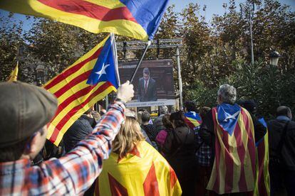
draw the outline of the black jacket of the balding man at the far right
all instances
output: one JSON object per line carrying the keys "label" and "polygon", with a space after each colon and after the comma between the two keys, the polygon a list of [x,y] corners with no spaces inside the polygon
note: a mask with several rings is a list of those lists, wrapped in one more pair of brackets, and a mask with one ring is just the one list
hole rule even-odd
{"label": "black jacket of the balding man at the far right", "polygon": [[[282,163],[287,170],[295,170],[295,121],[289,121],[286,127],[286,136],[281,138],[286,120],[274,119],[267,122],[269,129],[269,157],[282,159]],[[283,139],[281,152],[279,152],[279,142]]]}

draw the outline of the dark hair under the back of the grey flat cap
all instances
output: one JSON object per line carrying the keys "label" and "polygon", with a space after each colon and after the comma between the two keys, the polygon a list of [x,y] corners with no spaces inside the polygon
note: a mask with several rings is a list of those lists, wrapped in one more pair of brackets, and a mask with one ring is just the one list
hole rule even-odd
{"label": "dark hair under the back of the grey flat cap", "polygon": [[19,141],[11,146],[0,148],[0,163],[19,160],[30,141],[31,137]]}

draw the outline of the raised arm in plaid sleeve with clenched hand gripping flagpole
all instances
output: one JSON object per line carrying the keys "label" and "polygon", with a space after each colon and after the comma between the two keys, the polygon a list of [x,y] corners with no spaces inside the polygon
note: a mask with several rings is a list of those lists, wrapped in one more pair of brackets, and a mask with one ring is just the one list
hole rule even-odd
{"label": "raised arm in plaid sleeve with clenched hand gripping flagpole", "polygon": [[[51,180],[49,194],[67,194],[74,189],[81,195],[98,177],[102,170],[102,160],[108,158],[111,143],[123,123],[125,102],[133,97],[133,85],[126,82],[118,88],[117,100],[93,129],[93,133],[79,142],[70,153],[60,159],[51,159],[41,165],[45,175]],[[59,168],[55,170],[54,168]],[[48,168],[53,168],[48,171]]]}

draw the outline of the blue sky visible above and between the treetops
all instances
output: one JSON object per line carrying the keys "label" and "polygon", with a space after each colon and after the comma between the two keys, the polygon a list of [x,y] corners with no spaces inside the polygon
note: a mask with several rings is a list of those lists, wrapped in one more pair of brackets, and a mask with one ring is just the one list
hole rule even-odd
{"label": "blue sky visible above and between the treetops", "polygon": [[[187,4],[190,3],[197,3],[200,4],[200,14],[202,16],[205,16],[206,21],[209,22],[212,18],[213,14],[222,15],[224,13],[224,8],[222,7],[222,4],[228,3],[229,0],[170,0],[170,5],[175,4],[175,11],[180,12],[182,9],[187,6]],[[236,0],[236,4],[244,3],[245,0]],[[281,4],[287,4],[291,6],[291,10],[295,11],[295,0],[279,0]],[[206,12],[202,11],[203,6],[206,5],[207,9]],[[0,16],[8,16],[7,11],[3,11],[0,9]],[[14,20],[16,21],[24,21],[24,30],[29,30],[31,28],[31,23],[33,20],[28,21],[25,19],[24,15],[21,14],[15,14]]]}

